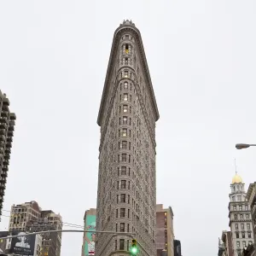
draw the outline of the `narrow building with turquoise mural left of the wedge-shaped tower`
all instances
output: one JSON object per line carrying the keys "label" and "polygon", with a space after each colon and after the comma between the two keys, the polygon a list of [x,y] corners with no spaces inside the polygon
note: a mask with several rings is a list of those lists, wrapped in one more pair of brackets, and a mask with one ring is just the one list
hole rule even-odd
{"label": "narrow building with turquoise mural left of the wedge-shaped tower", "polygon": [[[86,231],[96,230],[96,209],[95,208],[90,208],[90,210],[85,211],[84,230]],[[82,256],[95,255],[95,239],[96,239],[96,233],[94,232],[84,233]]]}

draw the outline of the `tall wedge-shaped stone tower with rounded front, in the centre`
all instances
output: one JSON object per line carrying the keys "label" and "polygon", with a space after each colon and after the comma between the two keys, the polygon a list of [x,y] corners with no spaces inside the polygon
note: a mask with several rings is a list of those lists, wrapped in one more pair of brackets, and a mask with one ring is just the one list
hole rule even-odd
{"label": "tall wedge-shaped stone tower with rounded front, in the centre", "polygon": [[[155,122],[159,119],[143,40],[129,20],[116,29],[97,123],[101,126],[97,230],[136,234],[156,255]],[[96,236],[96,256],[124,255],[131,236]]]}

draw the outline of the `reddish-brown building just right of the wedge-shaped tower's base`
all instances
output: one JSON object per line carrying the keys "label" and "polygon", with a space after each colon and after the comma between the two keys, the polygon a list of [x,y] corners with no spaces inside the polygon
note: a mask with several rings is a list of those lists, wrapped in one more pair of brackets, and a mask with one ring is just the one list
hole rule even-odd
{"label": "reddish-brown building just right of the wedge-shaped tower's base", "polygon": [[[164,209],[163,205],[156,205],[156,251],[157,256],[166,254],[174,256],[173,252],[173,212],[172,207]],[[162,253],[166,251],[167,253]]]}

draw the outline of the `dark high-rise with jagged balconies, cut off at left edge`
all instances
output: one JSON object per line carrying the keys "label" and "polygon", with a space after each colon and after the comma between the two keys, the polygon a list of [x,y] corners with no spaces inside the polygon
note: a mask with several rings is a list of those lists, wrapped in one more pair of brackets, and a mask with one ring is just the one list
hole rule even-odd
{"label": "dark high-rise with jagged balconies, cut off at left edge", "polygon": [[9,159],[15,131],[15,113],[9,111],[9,99],[0,90],[0,217],[3,208],[6,179],[9,171]]}

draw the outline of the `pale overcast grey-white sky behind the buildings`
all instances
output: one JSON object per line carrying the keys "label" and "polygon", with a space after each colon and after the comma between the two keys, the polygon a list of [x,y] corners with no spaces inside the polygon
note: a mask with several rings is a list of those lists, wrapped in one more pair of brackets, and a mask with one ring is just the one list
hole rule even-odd
{"label": "pale overcast grey-white sky behind the buildings", "polygon": [[[0,89],[17,115],[3,209],[35,200],[83,224],[96,207],[96,117],[113,32],[131,19],[160,110],[157,201],[172,206],[183,256],[216,255],[235,158],[255,181],[256,148],[235,148],[256,143],[255,11],[254,0],[1,1]],[[61,256],[81,246],[65,234]]]}

